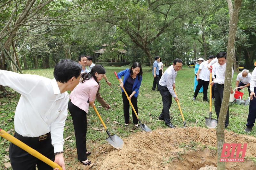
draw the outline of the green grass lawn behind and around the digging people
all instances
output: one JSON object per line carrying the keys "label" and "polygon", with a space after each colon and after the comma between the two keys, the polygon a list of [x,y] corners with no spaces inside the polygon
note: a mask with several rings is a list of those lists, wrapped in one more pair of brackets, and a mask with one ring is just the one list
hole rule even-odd
{"label": "green grass lawn behind and around the digging people", "polygon": [[[119,82],[114,74],[114,71],[119,72],[126,67],[105,67],[108,80],[112,83],[108,86],[105,80],[101,81],[100,93],[102,97],[110,104],[110,110],[104,110],[100,104],[96,101],[95,105],[100,113],[104,123],[106,124],[111,134],[116,134],[121,138],[128,137],[131,133],[140,131],[136,129],[131,123],[129,130],[124,128],[124,115],[123,115],[123,101]],[[166,69],[166,67],[164,67]],[[151,130],[158,128],[167,128],[163,121],[158,120],[158,116],[161,113],[163,104],[162,98],[158,91],[151,91],[153,85],[153,76],[150,67],[143,67],[143,79],[140,87],[140,93],[138,96],[138,108],[140,121],[146,124]],[[45,70],[23,70],[25,74],[38,74],[40,76],[53,78],[53,69]],[[237,72],[234,73],[232,79],[232,88],[235,88]],[[192,100],[194,94],[194,69],[183,66],[182,70],[178,71],[176,77],[176,92],[180,99],[180,106],[184,115],[187,126],[194,127],[206,127],[204,118],[209,117],[209,102],[203,101],[203,93],[199,93],[196,100]],[[0,128],[8,131],[10,134],[14,133],[14,114],[15,108],[18,103],[20,95],[7,87],[7,90],[11,92],[7,97],[3,97],[0,94]],[[208,89],[208,98],[210,90]],[[243,99],[248,98],[248,90],[245,88]],[[131,113],[130,108],[130,113]],[[180,110],[175,102],[172,100],[172,106],[170,108],[171,122],[176,127],[184,126]],[[244,128],[247,123],[248,106],[230,104],[229,105],[229,126],[228,131],[234,131],[237,134],[246,134],[256,137],[256,131],[251,133],[245,133]],[[216,118],[214,111],[214,101],[212,101],[212,118]],[[89,108],[87,115],[88,127],[86,142],[88,148],[94,147],[94,143],[106,143],[105,140],[108,135],[101,125],[101,122],[94,112],[93,108]],[[132,119],[132,117],[131,117]],[[94,128],[94,129],[93,129]],[[95,130],[96,128],[96,130]],[[100,130],[97,130],[100,129]],[[102,130],[103,129],[103,130]],[[64,150],[67,148],[76,148],[74,128],[71,115],[68,114],[66,125],[64,129]],[[5,151],[9,147],[10,142],[4,138],[0,139],[0,169],[4,168],[5,155],[8,152]],[[10,169],[10,168],[8,168]]]}

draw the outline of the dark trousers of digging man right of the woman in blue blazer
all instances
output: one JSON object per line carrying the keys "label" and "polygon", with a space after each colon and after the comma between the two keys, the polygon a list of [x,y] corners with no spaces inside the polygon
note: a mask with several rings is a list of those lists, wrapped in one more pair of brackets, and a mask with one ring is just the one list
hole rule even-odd
{"label": "dark trousers of digging man right of the woman in blue blazer", "polygon": [[171,123],[170,119],[170,107],[172,105],[172,94],[169,92],[167,87],[164,87],[162,85],[159,85],[159,92],[162,96],[163,101],[163,109],[161,114],[159,115],[159,119],[164,120],[166,124]]}

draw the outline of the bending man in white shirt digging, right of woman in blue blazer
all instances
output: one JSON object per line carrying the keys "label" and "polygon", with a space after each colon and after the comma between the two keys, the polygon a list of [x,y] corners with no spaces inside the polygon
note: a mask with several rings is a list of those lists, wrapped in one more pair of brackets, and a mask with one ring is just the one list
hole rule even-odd
{"label": "bending man in white shirt digging, right of woman in blue blazer", "polygon": [[159,92],[162,96],[163,109],[159,115],[159,120],[164,120],[165,124],[169,128],[175,128],[171,123],[170,119],[170,107],[172,105],[172,97],[177,102],[178,97],[175,95],[173,87],[175,88],[175,78],[177,76],[177,71],[182,67],[182,60],[176,58],[173,60],[173,64],[164,71],[163,76],[159,81]]}

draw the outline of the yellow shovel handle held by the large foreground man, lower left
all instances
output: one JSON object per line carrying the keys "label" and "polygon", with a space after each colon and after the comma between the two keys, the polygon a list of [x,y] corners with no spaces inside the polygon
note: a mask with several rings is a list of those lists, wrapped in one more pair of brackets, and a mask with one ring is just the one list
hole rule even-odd
{"label": "yellow shovel handle held by the large foreground man, lower left", "polygon": [[28,145],[24,144],[19,139],[17,139],[16,137],[13,137],[12,135],[7,133],[3,129],[0,129],[0,136],[4,137],[5,139],[7,139],[8,141],[12,142],[13,144],[19,146],[24,151],[27,151],[30,155],[40,159],[41,161],[43,161],[44,163],[50,165],[51,167],[59,168],[60,170],[62,170],[62,167],[59,166],[58,164],[56,164],[55,162],[53,162],[51,159],[46,158],[44,155],[42,155],[41,153],[37,152],[35,149],[29,147]]}

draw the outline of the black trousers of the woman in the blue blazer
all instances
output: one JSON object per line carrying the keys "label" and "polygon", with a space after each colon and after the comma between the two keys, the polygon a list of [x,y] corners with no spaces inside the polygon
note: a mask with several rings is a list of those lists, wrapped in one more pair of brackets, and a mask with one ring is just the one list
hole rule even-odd
{"label": "black trousers of the woman in the blue blazer", "polygon": [[[130,96],[132,94],[132,92],[127,92],[127,94],[128,94],[128,96]],[[130,102],[127,99],[124,92],[122,92],[122,98],[123,98],[123,103],[124,103],[124,123],[128,124],[129,120],[130,120]],[[137,115],[139,115],[137,100],[138,100],[137,97],[132,96],[132,98],[131,98],[132,106],[134,107]],[[133,124],[138,124],[138,119],[137,119],[133,109],[132,109],[132,121],[133,121]]]}

